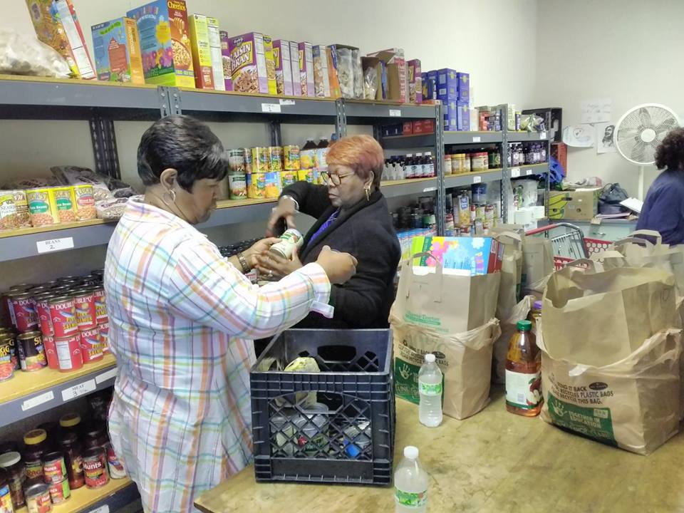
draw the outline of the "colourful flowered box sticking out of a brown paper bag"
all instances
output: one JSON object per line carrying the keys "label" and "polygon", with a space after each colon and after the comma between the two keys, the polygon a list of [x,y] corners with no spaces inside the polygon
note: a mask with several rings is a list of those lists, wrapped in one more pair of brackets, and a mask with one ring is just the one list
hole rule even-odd
{"label": "colourful flowered box sticking out of a brown paper bag", "polygon": [[415,237],[411,254],[430,253],[432,257],[413,259],[414,266],[442,264],[444,274],[479,276],[501,271],[504,246],[491,237]]}

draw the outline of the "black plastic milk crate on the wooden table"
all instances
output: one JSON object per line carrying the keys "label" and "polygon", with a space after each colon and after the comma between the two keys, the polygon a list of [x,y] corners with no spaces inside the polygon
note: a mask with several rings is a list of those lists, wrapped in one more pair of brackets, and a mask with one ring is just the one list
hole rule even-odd
{"label": "black plastic milk crate on the wooden table", "polygon": [[[321,372],[257,370],[300,356]],[[392,483],[390,330],[284,331],[252,368],[250,388],[257,481]]]}

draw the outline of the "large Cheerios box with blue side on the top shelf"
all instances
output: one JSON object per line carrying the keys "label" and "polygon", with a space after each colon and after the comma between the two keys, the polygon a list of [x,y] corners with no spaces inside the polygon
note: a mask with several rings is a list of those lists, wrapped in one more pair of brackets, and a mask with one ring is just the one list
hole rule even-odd
{"label": "large Cheerios box with blue side on the top shelf", "polygon": [[138,23],[145,82],[195,87],[185,1],[156,0],[127,16]]}

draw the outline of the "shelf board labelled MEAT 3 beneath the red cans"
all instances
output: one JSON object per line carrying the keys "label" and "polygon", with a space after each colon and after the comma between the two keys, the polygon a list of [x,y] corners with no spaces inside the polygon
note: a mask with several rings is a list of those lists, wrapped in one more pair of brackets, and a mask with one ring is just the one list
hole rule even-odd
{"label": "shelf board labelled MEAT 3 beneath the red cans", "polygon": [[115,376],[116,360],[110,354],[71,373],[15,371],[14,378],[0,382],[0,427],[108,388]]}

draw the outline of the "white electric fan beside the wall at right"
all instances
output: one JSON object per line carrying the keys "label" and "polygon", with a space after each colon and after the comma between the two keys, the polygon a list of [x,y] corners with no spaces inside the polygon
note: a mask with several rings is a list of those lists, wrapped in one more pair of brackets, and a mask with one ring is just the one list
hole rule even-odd
{"label": "white electric fan beside the wall at right", "polygon": [[643,201],[643,168],[655,162],[655,149],[665,135],[679,126],[672,109],[658,103],[644,103],[623,114],[615,128],[613,143],[620,155],[639,166],[639,196]]}

